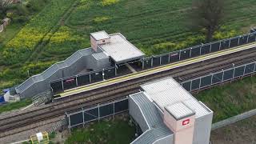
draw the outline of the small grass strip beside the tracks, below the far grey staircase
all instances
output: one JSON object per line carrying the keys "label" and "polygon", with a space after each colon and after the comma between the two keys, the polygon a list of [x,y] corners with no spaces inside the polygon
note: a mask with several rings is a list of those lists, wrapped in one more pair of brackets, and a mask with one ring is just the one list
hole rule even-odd
{"label": "small grass strip beside the tracks, below the far grey staircase", "polygon": [[20,102],[11,102],[6,105],[0,106],[0,114],[5,111],[16,110],[32,103],[31,99],[24,99]]}

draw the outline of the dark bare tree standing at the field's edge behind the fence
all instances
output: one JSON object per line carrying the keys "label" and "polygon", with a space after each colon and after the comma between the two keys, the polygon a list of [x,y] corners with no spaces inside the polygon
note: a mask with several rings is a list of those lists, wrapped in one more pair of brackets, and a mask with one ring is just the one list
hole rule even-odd
{"label": "dark bare tree standing at the field's edge behind the fence", "polygon": [[191,13],[192,26],[206,30],[206,42],[212,41],[214,32],[220,28],[225,17],[227,0],[194,0]]}

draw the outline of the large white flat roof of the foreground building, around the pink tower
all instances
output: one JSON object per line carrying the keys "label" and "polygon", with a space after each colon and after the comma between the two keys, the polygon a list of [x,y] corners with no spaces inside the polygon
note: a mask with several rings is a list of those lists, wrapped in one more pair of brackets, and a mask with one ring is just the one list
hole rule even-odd
{"label": "large white flat roof of the foreground building, around the pink tower", "polygon": [[176,82],[174,78],[163,78],[158,81],[146,83],[141,87],[146,91],[148,97],[162,110],[165,109],[165,106],[170,106],[177,102],[184,102],[186,106],[194,110],[196,118],[211,112]]}

